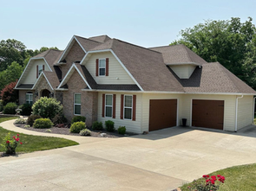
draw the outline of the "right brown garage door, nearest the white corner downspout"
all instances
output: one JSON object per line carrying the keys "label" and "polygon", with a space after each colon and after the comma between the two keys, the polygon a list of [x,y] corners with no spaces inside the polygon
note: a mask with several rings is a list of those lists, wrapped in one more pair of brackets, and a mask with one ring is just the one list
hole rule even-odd
{"label": "right brown garage door, nearest the white corner downspout", "polygon": [[223,130],[223,121],[223,100],[193,100],[192,126]]}

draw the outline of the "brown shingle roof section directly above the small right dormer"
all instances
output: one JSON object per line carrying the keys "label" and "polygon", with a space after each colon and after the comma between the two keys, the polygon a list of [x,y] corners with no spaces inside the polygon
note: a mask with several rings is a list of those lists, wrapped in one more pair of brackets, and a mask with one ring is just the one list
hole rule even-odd
{"label": "brown shingle roof section directly above the small right dormer", "polygon": [[185,63],[202,65],[207,63],[206,60],[203,60],[198,54],[195,54],[191,49],[187,48],[183,44],[149,49],[160,52],[166,65],[178,65]]}

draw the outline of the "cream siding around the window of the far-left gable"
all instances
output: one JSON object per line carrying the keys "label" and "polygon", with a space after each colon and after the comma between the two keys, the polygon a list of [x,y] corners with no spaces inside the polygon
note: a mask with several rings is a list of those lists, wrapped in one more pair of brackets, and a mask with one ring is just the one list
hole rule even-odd
{"label": "cream siding around the window of the far-left gable", "polygon": [[37,65],[44,65],[44,71],[50,71],[48,65],[45,63],[43,59],[40,60],[33,60],[31,66],[27,68],[28,73],[26,76],[23,76],[23,84],[34,84],[36,82],[36,66]]}

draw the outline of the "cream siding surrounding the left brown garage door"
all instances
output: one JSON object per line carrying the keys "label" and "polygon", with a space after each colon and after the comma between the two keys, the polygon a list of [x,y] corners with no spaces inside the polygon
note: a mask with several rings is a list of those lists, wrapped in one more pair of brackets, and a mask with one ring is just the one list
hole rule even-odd
{"label": "cream siding surrounding the left brown garage door", "polygon": [[178,107],[178,125],[181,125],[181,102],[182,95],[179,94],[167,94],[167,93],[144,93],[142,96],[142,132],[148,131],[149,127],[149,100],[150,99],[177,99]]}

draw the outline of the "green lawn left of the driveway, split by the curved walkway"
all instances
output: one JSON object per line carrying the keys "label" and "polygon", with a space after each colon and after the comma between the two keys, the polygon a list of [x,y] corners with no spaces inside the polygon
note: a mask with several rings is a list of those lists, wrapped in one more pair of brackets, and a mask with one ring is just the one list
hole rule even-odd
{"label": "green lawn left of the driveway, split by the curved walkway", "polygon": [[[14,118],[0,118],[0,123]],[[7,131],[0,127],[0,143],[3,142],[3,138],[10,132],[10,136],[16,136],[19,134],[20,142],[16,148],[16,152],[29,153],[36,150],[52,150],[56,148],[68,147],[72,145],[77,145],[75,141],[70,141],[65,138],[58,137],[41,137],[41,136],[30,136],[23,133],[17,133],[14,131]],[[0,152],[3,152],[3,147],[0,147]]]}

